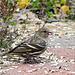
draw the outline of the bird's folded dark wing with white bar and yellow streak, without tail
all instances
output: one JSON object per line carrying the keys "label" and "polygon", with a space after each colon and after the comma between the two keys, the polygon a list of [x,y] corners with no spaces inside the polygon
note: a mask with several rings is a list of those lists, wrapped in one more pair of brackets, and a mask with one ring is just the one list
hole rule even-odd
{"label": "bird's folded dark wing with white bar and yellow streak, without tail", "polygon": [[17,47],[13,53],[26,53],[26,52],[37,52],[43,50],[45,47],[38,44],[28,44],[23,43],[19,47]]}

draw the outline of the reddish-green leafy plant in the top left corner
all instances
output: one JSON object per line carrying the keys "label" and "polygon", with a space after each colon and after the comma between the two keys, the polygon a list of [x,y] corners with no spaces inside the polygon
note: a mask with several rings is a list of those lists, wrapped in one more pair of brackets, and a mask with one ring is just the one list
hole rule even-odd
{"label": "reddish-green leafy plant in the top left corner", "polygon": [[0,18],[4,23],[7,23],[12,17],[16,7],[16,1],[14,3],[11,0],[1,0],[0,3]]}

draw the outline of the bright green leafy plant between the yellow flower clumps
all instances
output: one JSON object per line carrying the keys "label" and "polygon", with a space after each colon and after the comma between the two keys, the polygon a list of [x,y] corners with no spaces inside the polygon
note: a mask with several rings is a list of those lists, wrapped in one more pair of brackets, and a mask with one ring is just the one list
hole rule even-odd
{"label": "bright green leafy plant between the yellow flower clumps", "polygon": [[56,3],[56,1],[60,2],[60,0],[30,0],[32,4],[32,11],[38,15],[39,13],[44,14],[43,17],[46,16],[44,21],[48,20],[49,18],[54,19],[51,9],[53,9],[53,4]]}

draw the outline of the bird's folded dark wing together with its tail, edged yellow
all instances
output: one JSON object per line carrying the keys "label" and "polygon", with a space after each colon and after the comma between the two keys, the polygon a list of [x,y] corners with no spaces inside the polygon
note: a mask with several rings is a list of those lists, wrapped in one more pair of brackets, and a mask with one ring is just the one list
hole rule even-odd
{"label": "bird's folded dark wing together with its tail, edged yellow", "polygon": [[4,54],[2,54],[2,56],[6,55],[6,54],[21,54],[21,53],[34,53],[34,52],[39,52],[41,50],[43,50],[45,47],[38,45],[38,44],[28,44],[26,42],[22,42],[21,44],[19,44],[17,47],[15,47],[14,49],[10,50],[9,52],[6,52]]}

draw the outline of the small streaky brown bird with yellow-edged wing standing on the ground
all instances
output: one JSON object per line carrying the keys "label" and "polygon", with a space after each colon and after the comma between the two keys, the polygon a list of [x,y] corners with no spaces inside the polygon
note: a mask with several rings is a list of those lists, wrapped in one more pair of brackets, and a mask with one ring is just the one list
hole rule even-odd
{"label": "small streaky brown bird with yellow-edged wing standing on the ground", "polygon": [[47,28],[40,28],[35,34],[30,37],[28,40],[22,42],[14,49],[10,50],[4,55],[19,55],[27,59],[31,59],[32,57],[37,57],[38,55],[42,54],[47,48],[46,39],[48,38],[49,29]]}

